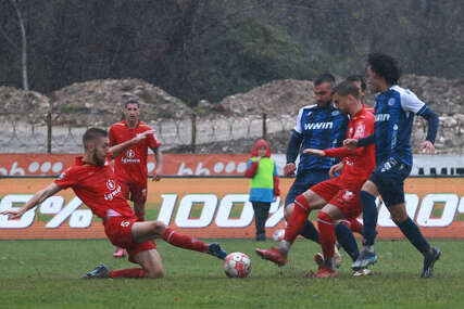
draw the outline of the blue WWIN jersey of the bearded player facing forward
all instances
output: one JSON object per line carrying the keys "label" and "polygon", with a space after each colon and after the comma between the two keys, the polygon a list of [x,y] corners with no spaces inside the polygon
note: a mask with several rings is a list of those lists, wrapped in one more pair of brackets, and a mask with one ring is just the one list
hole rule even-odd
{"label": "blue WWIN jersey of the bearded player facing forward", "polygon": [[317,157],[303,154],[304,149],[326,150],[341,146],[349,119],[330,104],[326,108],[318,105],[300,108],[293,134],[302,138],[300,149],[300,164],[298,173],[304,170],[329,169],[338,158]]}

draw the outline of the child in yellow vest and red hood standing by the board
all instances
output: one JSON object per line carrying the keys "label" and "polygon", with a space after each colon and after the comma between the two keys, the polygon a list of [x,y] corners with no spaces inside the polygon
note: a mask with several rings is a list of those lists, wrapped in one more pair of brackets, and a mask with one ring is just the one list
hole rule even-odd
{"label": "child in yellow vest and red hood standing by the board", "polygon": [[251,178],[249,201],[254,210],[256,241],[265,241],[264,226],[269,216],[271,203],[280,195],[279,179],[276,164],[271,158],[271,150],[265,140],[261,139],[254,144],[251,155],[244,176]]}

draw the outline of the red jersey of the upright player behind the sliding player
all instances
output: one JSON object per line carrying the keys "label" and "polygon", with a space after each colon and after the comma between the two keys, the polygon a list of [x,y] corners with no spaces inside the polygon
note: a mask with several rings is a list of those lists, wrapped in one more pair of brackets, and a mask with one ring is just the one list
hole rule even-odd
{"label": "red jersey of the upright player behind the sliding player", "polygon": [[[151,130],[150,126],[139,121],[130,129],[126,121],[116,123],[110,128],[110,146],[114,146],[131,140],[137,134]],[[133,145],[124,154],[114,159],[114,171],[122,182],[146,183],[148,147],[159,147],[161,143],[154,134],[149,134],[140,143]]]}

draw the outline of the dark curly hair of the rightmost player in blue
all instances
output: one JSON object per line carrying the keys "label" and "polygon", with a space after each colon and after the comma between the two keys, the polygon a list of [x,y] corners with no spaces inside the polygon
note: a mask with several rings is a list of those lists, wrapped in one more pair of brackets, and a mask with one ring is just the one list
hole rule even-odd
{"label": "dark curly hair of the rightmost player in blue", "polygon": [[371,53],[367,57],[367,64],[378,76],[385,78],[389,85],[397,85],[401,77],[401,69],[398,61],[385,53]]}

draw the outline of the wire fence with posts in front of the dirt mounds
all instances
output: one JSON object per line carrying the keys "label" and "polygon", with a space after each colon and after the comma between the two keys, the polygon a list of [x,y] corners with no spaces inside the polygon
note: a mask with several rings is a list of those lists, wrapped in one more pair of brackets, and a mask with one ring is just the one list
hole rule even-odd
{"label": "wire fence with posts in front of the dirt mounds", "polygon": [[[83,114],[81,117],[88,117]],[[81,151],[81,136],[89,126],[60,119],[61,116],[47,114],[34,120],[18,114],[0,115],[1,153],[78,153]],[[77,116],[78,118],[79,116]],[[98,124],[109,129],[112,123]],[[154,130],[163,150],[188,149],[196,153],[199,145],[235,141],[240,139],[266,138],[268,134],[287,131],[294,126],[294,116],[269,116],[266,114],[247,117],[200,117],[191,114],[183,119],[147,121]]]}

